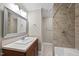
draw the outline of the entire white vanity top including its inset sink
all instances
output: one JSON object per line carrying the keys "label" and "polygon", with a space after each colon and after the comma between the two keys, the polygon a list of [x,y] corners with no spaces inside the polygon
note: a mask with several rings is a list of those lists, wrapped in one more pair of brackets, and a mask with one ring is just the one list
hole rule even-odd
{"label": "entire white vanity top including its inset sink", "polygon": [[25,40],[20,39],[16,42],[4,45],[2,46],[2,48],[25,52],[36,39],[37,39],[36,37],[26,37]]}

